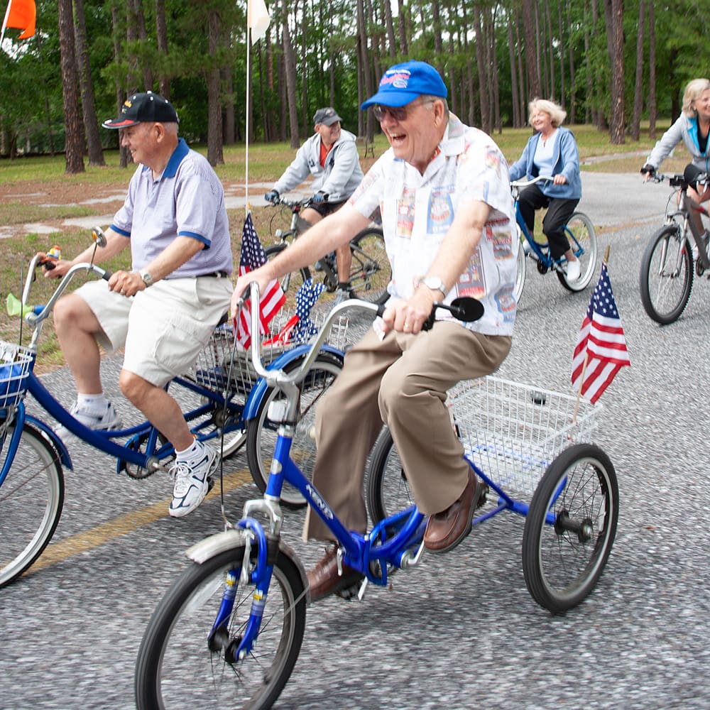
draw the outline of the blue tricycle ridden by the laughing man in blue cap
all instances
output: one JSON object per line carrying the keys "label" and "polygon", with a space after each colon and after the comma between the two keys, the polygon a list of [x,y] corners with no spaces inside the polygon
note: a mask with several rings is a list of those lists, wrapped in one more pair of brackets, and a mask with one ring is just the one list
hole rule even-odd
{"label": "blue tricycle ridden by the laughing man in blue cap", "polygon": [[[256,284],[251,285],[251,300],[258,300]],[[376,304],[349,300],[336,306],[329,320],[354,307],[378,312]],[[266,494],[245,504],[238,523],[187,550],[192,564],[158,604],[138,651],[139,710],[268,708],[278,698],[300,652],[310,599],[305,570],[280,539],[279,498],[285,481],[332,530],[339,561],[363,575],[360,599],[368,584],[386,586],[395,570],[415,567],[424,555],[426,518],[416,506],[405,501],[405,508],[393,507],[389,513],[371,510],[370,532],[351,532],[293,461],[298,383],[315,361],[329,320],[292,373],[267,371],[259,361],[258,344],[253,347],[253,366],[285,395],[279,411],[271,412],[281,423]],[[581,403],[577,408],[572,397],[496,378],[461,383],[449,399],[452,426],[465,442],[466,459],[499,496],[495,508],[475,522],[501,510],[527,514],[523,564],[530,568],[526,579],[533,596],[550,603],[552,611],[579,603],[606,564],[618,517],[611,461],[593,444],[569,447],[589,435],[598,406]],[[482,428],[473,418],[481,413],[487,413]],[[483,461],[496,479],[484,474]],[[406,480],[405,471],[395,466],[387,470],[395,472],[395,479],[371,476],[368,484],[368,498],[383,506]],[[528,485],[535,480],[529,505],[503,491],[504,486],[515,487],[518,479]]]}

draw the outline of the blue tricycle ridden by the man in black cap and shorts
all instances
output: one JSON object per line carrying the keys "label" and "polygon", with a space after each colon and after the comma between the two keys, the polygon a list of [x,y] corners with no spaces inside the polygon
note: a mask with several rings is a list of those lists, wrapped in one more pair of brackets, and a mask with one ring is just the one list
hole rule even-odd
{"label": "blue tricycle ridden by the man in black cap and shorts", "polygon": [[[98,233],[100,230],[94,233],[95,239],[101,244]],[[28,307],[35,269],[43,261],[40,255],[33,258],[21,300],[25,321],[34,328],[30,344],[0,341],[0,586],[31,567],[52,539],[64,503],[62,466],[73,470],[67,446],[53,425],[26,411],[27,393],[84,443],[115,457],[119,474],[142,479],[155,471],[167,472],[173,462],[172,445],[150,422],[142,420],[121,430],[90,430],[35,375],[43,323],[72,278],[87,272],[101,278],[110,275],[94,263],[77,264],[62,278],[46,305]],[[269,367],[291,371],[309,350],[297,341],[280,341],[268,348]],[[192,433],[201,441],[221,444],[223,459],[247,443],[252,477],[263,490],[269,465],[265,456],[275,430],[268,408],[273,400],[278,400],[279,393],[253,371],[244,355],[235,354],[231,325],[219,325],[192,370],[175,378],[168,388]],[[315,369],[302,386],[302,426],[294,445],[304,461],[315,457],[315,442],[310,436],[315,402],[339,373],[342,359],[342,349],[323,345],[315,355]],[[283,493],[286,506],[302,505],[297,491],[285,488]]]}

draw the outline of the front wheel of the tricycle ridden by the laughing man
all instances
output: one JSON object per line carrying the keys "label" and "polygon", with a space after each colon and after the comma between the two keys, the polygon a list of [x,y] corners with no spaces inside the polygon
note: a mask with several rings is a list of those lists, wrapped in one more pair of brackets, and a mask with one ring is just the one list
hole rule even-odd
{"label": "front wheel of the tricycle ridden by the laughing man", "polygon": [[251,583],[230,585],[235,598],[227,638],[208,640],[226,574],[236,571],[239,578],[244,552],[240,545],[193,563],[158,604],[136,661],[139,710],[270,708],[278,698],[298,657],[306,616],[304,584],[285,550],[275,558],[269,593],[262,599],[261,630],[249,655],[233,663],[225,658],[229,643],[239,642],[249,621],[255,598]]}

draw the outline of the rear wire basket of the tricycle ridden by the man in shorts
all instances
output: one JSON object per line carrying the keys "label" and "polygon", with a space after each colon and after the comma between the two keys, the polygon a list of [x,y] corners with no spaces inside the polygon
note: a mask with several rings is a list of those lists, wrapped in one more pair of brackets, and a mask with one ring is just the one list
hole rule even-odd
{"label": "rear wire basket of the tricycle ridden by the man in shorts", "polygon": [[[313,329],[317,332],[323,324],[327,312],[312,314]],[[277,314],[269,323],[271,332],[263,338],[261,344],[261,359],[268,367],[275,359],[286,351],[298,345],[306,344],[312,339],[312,334],[299,334],[288,326],[293,324],[293,316]],[[336,320],[325,342],[330,346],[344,351],[347,344],[349,322],[346,316]],[[278,337],[280,334],[281,337]],[[231,386],[227,386],[227,378],[231,371]],[[197,361],[187,373],[187,378],[210,390],[229,393],[240,392],[248,395],[257,381],[258,375],[251,364],[251,350],[245,350],[236,343],[231,322],[224,323],[214,329],[204,346]]]}

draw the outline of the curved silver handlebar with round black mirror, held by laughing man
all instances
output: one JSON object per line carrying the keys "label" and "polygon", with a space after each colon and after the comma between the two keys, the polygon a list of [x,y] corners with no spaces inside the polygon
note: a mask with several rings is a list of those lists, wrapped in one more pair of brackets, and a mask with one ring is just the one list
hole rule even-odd
{"label": "curved silver handlebar with round black mirror, held by laughing man", "polygon": [[[256,281],[252,281],[249,285],[249,298],[252,303],[259,302],[259,285]],[[244,305],[245,297],[244,295],[239,300],[239,308]],[[317,337],[312,341],[312,345],[304,361],[299,368],[296,368],[291,373],[285,373],[283,371],[267,370],[263,366],[261,361],[261,342],[258,337],[252,337],[251,339],[251,364],[258,376],[264,378],[269,386],[281,386],[288,387],[299,383],[310,370],[313,362],[315,361],[320,347],[324,343],[330,327],[332,326],[336,317],[338,317],[344,310],[349,310],[351,308],[357,308],[358,310],[369,311],[374,315],[382,315],[385,312],[386,304],[371,303],[369,301],[363,301],[356,298],[351,298],[339,303],[335,306],[327,315],[324,324],[322,325]],[[432,312],[427,319],[427,324],[429,327],[434,322],[434,312],[437,308],[443,308],[449,311],[455,318],[461,321],[471,322],[474,320],[479,320],[479,318],[484,314],[484,305],[481,301],[476,298],[471,297],[461,297],[454,299],[451,304],[435,303],[432,307]],[[251,332],[259,332],[259,309],[251,309]]]}

